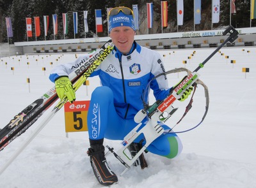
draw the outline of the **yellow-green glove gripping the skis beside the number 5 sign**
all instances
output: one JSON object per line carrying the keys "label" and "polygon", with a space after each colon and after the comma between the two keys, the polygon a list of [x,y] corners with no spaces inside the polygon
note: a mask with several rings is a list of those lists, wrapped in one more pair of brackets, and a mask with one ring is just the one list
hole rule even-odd
{"label": "yellow-green glove gripping the skis beside the number 5 sign", "polygon": [[60,99],[63,99],[65,96],[67,96],[70,103],[76,101],[76,92],[74,91],[68,76],[61,76],[57,78],[55,80],[55,89]]}

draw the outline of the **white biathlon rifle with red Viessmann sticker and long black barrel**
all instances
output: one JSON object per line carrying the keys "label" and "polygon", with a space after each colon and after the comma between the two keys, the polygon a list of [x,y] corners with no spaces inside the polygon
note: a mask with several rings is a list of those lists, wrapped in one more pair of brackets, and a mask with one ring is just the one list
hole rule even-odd
{"label": "white biathlon rifle with red Viessmann sticker and long black barrel", "polygon": [[[128,133],[127,136],[125,136],[124,140],[122,140],[122,147],[119,150],[115,152],[113,148],[110,148],[108,145],[106,146],[109,151],[112,152],[115,157],[126,167],[122,174],[124,174],[125,171],[127,171],[132,166],[132,164],[138,159],[138,157],[143,153],[148,145],[152,143],[152,141],[156,140],[156,138],[161,136],[161,134],[166,133],[166,131],[163,130],[163,127],[160,124],[161,122],[165,122],[169,117],[173,115],[174,112],[176,112],[177,108],[173,108],[172,104],[177,99],[180,99],[182,94],[184,94],[186,89],[188,89],[189,87],[196,87],[196,84],[198,83],[204,85],[204,83],[202,83],[202,81],[198,79],[200,75],[197,73],[197,71],[203,68],[204,64],[209,61],[209,59],[211,59],[211,57],[216,54],[216,52],[218,52],[220,48],[222,48],[226,43],[233,43],[238,38],[238,32],[232,26],[229,26],[223,32],[223,36],[227,34],[229,34],[227,40],[221,43],[221,45],[216,48],[216,50],[214,50],[214,52],[212,52],[212,54],[209,55],[209,57],[207,57],[204,62],[200,63],[193,72],[185,68],[179,68],[172,71],[166,71],[165,73],[161,73],[160,75],[157,75],[152,79],[154,80],[159,76],[179,71],[188,72],[188,75],[184,76],[184,78],[177,85],[175,85],[175,87],[173,87],[172,92],[170,92],[170,94],[163,101],[156,101],[151,106],[145,105],[145,108],[140,110],[135,115],[134,121],[138,123],[138,126],[134,127],[134,129],[132,129],[132,131]],[[208,95],[208,93],[206,95]],[[206,103],[207,108],[205,110],[204,117],[208,110],[209,99],[206,101]],[[147,122],[143,123],[143,120],[146,117],[148,118],[148,120]],[[204,120],[204,117],[202,121]],[[140,151],[138,151],[138,153],[134,157],[132,157],[129,153],[129,145],[131,145],[131,143],[136,140],[136,138],[138,138],[140,134],[143,134],[144,136],[143,141],[145,145],[143,145]]]}

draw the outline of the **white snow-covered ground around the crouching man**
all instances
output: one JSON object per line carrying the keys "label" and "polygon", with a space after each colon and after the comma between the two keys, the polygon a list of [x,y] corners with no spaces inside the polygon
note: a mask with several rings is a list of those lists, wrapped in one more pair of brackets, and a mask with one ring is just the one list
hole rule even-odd
{"label": "white snow-covered ground around the crouching man", "polygon": [[[159,53],[163,55],[166,70],[186,66],[193,71],[213,50],[214,48],[163,50]],[[193,51],[194,55],[188,59]],[[0,128],[54,86],[48,80],[53,66],[73,61],[74,58],[75,54],[2,57]],[[119,178],[118,184],[111,187],[256,187],[255,59],[255,47],[222,48],[214,55],[198,71],[200,79],[209,88],[209,112],[199,127],[179,134],[184,145],[182,154],[173,160],[145,154],[148,168],[131,168],[122,177],[120,173],[124,166],[109,154],[109,166]],[[231,64],[231,60],[236,63]],[[183,64],[183,61],[187,61],[187,64]],[[46,70],[42,71],[42,68]],[[242,68],[250,68],[250,72],[245,74]],[[183,75],[184,73],[168,75],[170,87],[179,82]],[[26,82],[27,78],[30,79],[30,84]],[[77,100],[89,100],[92,90],[99,84],[98,78],[90,78],[88,96],[86,86],[83,86],[77,91]],[[150,101],[153,103],[154,98],[151,97]],[[173,106],[179,106],[179,110],[168,120],[169,126],[174,126],[179,120],[187,102],[174,103]],[[174,130],[183,131],[195,126],[202,119],[204,110],[204,90],[198,86],[191,112]],[[0,168],[48,113],[49,111],[45,112],[26,133],[0,152]],[[105,140],[104,144],[117,149],[120,141]],[[0,175],[0,187],[102,187],[93,175],[86,155],[88,147],[86,132],[68,133],[66,138],[64,110],[61,109]]]}

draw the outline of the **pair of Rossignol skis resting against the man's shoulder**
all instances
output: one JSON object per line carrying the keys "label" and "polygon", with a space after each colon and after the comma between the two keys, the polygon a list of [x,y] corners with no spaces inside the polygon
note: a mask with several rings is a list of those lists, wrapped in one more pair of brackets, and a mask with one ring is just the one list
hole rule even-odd
{"label": "pair of Rossignol skis resting against the man's shoulder", "polygon": [[[70,73],[70,78],[74,90],[76,91],[85,80],[92,74],[92,72],[99,66],[99,64],[108,56],[113,50],[113,43],[111,40],[107,41],[95,54],[88,59],[83,59],[80,66]],[[24,110],[15,115],[10,122],[0,129],[0,151],[10,144],[17,136],[24,133],[42,114],[51,107],[58,99],[55,86],[45,92],[40,98],[28,105]],[[60,108],[68,101],[67,97],[61,100],[52,110],[53,113],[58,112]]]}

